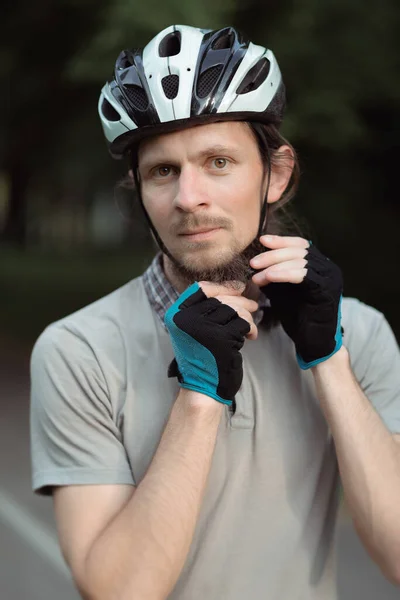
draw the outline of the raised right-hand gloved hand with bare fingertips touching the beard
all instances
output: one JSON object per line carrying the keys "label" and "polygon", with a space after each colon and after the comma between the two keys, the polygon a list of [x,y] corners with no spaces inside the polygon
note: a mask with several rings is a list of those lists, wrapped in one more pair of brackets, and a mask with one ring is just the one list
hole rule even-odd
{"label": "raised right-hand gloved hand with bare fingertips touching the beard", "polygon": [[282,327],[296,346],[302,369],[327,360],[342,346],[340,268],[300,237],[261,236],[268,251],[250,266]]}

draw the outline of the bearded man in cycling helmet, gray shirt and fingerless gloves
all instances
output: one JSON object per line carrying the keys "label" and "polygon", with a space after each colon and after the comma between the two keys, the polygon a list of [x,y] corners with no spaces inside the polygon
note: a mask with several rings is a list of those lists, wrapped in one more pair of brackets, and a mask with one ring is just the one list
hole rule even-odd
{"label": "bearded man in cycling helmet, gray shirt and fingerless gloves", "polygon": [[32,355],[33,487],[84,598],[336,598],[339,471],[400,582],[400,354],[333,262],[270,235],[297,177],[283,108],[232,28],[170,27],[102,90],[161,253]]}

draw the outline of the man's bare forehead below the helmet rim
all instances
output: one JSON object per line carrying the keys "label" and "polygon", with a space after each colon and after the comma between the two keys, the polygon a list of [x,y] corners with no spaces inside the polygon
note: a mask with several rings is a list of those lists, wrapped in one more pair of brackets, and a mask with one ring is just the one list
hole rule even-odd
{"label": "man's bare forehead below the helmet rim", "polygon": [[141,142],[139,160],[153,155],[179,152],[180,149],[191,152],[201,152],[211,146],[237,149],[248,152],[251,147],[256,149],[256,141],[247,123],[230,121],[196,125],[172,133],[153,136]]}

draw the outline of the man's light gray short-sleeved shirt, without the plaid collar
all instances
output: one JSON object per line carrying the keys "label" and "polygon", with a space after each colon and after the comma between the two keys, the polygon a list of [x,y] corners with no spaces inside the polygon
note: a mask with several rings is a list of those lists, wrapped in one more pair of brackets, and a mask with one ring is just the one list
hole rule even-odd
{"label": "man's light gray short-sleeved shirt, without the plaid collar", "polygon": [[[400,432],[400,353],[384,316],[343,301],[354,373]],[[281,327],[246,341],[194,539],[170,600],[333,600],[338,468],[313,375]],[[137,278],[50,325],[31,360],[33,488],[138,485],[178,393],[168,333]]]}

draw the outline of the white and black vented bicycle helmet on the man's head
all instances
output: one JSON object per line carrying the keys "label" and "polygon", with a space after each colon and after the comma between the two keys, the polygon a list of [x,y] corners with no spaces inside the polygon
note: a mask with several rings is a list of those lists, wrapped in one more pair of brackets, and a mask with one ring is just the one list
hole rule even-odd
{"label": "white and black vented bicycle helmet on the man's head", "polygon": [[271,50],[233,27],[172,25],[125,50],[103,87],[99,114],[111,155],[148,135],[210,121],[282,121],[285,87]]}

